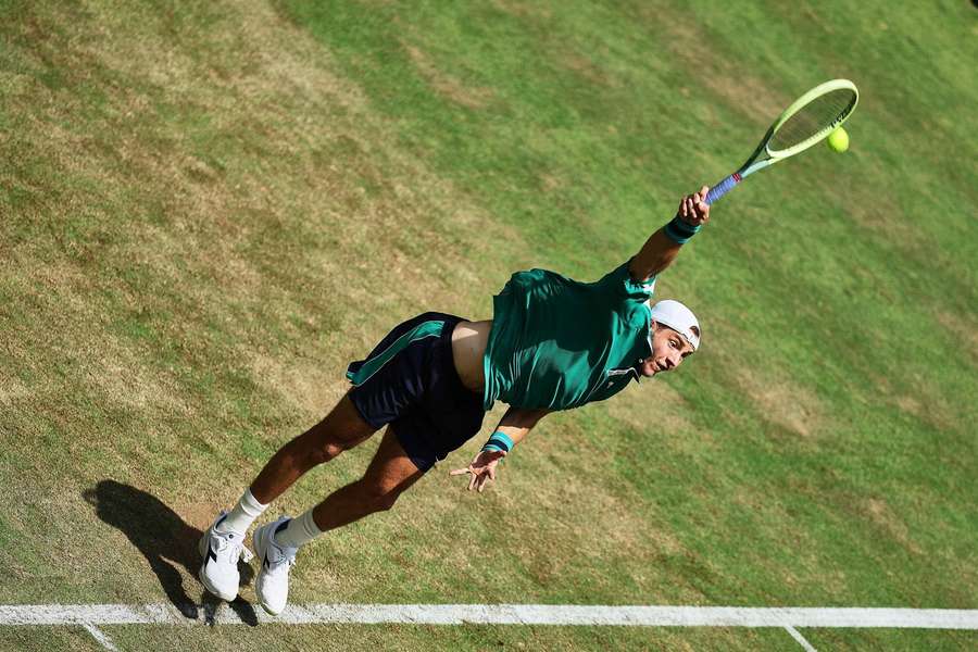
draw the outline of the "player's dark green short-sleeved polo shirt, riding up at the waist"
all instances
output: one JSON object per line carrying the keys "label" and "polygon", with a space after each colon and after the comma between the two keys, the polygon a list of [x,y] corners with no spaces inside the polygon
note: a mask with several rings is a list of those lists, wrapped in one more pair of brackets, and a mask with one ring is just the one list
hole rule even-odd
{"label": "player's dark green short-sleeved polo shirt, riding up at the waist", "polygon": [[631,280],[628,263],[595,283],[517,272],[493,299],[482,359],[485,409],[568,410],[618,393],[647,358],[655,280]]}

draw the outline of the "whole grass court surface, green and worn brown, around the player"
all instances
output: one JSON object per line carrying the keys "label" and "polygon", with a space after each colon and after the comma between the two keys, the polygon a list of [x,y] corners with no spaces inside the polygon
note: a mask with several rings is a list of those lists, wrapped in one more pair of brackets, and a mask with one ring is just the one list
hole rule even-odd
{"label": "whole grass court surface, green and worn brown, around the player", "polygon": [[[2,2],[0,17],[0,603],[198,599],[179,536],[322,416],[394,323],[489,317],[528,266],[599,277],[793,96],[845,76],[862,91],[850,152],[752,177],[661,278],[701,317],[695,358],[548,417],[481,497],[446,473],[473,442],[392,512],[303,551],[292,594],[976,607],[974,8]],[[275,509],[355,478],[375,446]],[[146,509],[103,519],[99,487],[118,492],[103,515]],[[156,552],[179,586],[161,586]],[[793,644],[341,629],[323,644]],[[233,644],[109,631],[127,650]],[[244,649],[277,637],[234,631]],[[28,650],[87,636],[0,630]]]}

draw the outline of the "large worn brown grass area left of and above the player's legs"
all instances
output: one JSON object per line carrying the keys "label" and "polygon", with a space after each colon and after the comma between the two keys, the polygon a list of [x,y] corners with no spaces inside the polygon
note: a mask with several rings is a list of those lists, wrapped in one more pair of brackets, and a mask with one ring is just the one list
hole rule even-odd
{"label": "large worn brown grass area left of and above the player's legs", "polygon": [[[255,447],[333,406],[349,360],[425,310],[488,317],[510,273],[497,243],[527,248],[400,150],[329,53],[272,7],[201,7],[203,27],[147,8],[62,9],[33,7],[11,29],[24,30],[24,65],[50,64],[64,85],[0,80],[16,120],[0,136],[34,163],[0,170],[3,190],[29,197],[0,227],[13,292],[0,325],[16,334],[4,441],[17,460],[35,453],[17,453],[13,432],[53,428],[64,442],[18,475],[25,502],[60,505],[60,541],[104,534],[78,501],[120,469],[140,487],[175,473],[156,498],[202,528],[256,473]],[[204,492],[214,500],[187,502]]]}

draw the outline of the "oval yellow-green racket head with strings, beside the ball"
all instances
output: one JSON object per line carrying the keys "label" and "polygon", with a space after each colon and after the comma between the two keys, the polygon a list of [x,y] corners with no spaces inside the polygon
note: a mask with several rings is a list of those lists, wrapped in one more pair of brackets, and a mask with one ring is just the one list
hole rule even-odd
{"label": "oval yellow-green racket head with strings, beside the ball", "polygon": [[787,159],[822,141],[855,111],[860,91],[849,79],[819,84],[775,121],[764,140],[772,159]]}

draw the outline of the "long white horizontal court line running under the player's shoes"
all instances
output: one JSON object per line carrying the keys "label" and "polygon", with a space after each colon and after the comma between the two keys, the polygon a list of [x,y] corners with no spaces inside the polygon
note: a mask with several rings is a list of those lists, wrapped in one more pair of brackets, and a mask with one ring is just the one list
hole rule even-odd
{"label": "long white horizontal court line running under the player's shoes", "polygon": [[[240,607],[239,607],[240,609]],[[259,623],[413,625],[619,625],[645,627],[890,627],[978,629],[978,610],[878,607],[602,606],[577,604],[306,604],[268,616],[254,606]],[[3,625],[184,625],[197,620],[172,604],[7,604]],[[240,625],[222,603],[212,622]]]}

